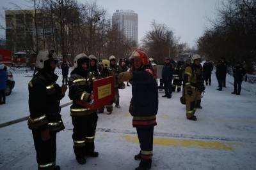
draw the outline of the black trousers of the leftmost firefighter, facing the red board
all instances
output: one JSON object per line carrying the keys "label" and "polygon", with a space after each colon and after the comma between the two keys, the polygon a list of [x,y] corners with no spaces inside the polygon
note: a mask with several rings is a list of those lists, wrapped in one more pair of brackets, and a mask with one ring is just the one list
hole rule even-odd
{"label": "black trousers of the leftmost firefighter, facing the red board", "polygon": [[56,161],[56,132],[50,132],[51,138],[42,141],[41,131],[32,130],[36,149],[38,169],[54,169]]}

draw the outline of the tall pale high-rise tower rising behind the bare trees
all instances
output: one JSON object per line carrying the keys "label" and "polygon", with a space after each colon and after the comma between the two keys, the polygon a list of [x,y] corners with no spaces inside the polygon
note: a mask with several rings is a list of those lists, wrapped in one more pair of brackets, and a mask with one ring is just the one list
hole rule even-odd
{"label": "tall pale high-rise tower rising behind the bare trees", "polygon": [[138,44],[138,14],[132,10],[116,10],[112,16],[112,25],[118,26],[124,36]]}

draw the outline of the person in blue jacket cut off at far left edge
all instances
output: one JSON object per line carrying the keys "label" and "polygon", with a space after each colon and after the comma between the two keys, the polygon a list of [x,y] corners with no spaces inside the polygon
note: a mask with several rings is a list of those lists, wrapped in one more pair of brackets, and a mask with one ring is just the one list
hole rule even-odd
{"label": "person in blue jacket cut off at far left edge", "polygon": [[0,104],[5,104],[5,89],[7,81],[6,66],[0,64]]}

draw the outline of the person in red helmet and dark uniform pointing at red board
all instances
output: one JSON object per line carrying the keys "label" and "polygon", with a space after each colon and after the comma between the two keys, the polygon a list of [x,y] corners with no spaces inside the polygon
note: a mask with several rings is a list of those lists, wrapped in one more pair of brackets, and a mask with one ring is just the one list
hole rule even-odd
{"label": "person in red helmet and dark uniform pointing at red board", "polygon": [[141,160],[136,170],[145,170],[150,169],[152,164],[153,134],[158,110],[157,84],[145,52],[142,50],[132,52],[131,62],[131,71],[120,73],[118,82],[130,80],[132,85],[129,112],[133,117],[132,125],[136,127],[141,148],[134,159]]}

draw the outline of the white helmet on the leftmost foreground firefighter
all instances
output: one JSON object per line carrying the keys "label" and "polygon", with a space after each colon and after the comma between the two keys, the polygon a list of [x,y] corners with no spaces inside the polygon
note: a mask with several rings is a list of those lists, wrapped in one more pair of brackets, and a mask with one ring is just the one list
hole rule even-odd
{"label": "white helmet on the leftmost foreground firefighter", "polygon": [[58,60],[58,57],[54,50],[51,50],[50,52],[48,50],[42,50],[38,52],[38,55],[36,57],[36,68],[43,69],[44,62],[46,60]]}

